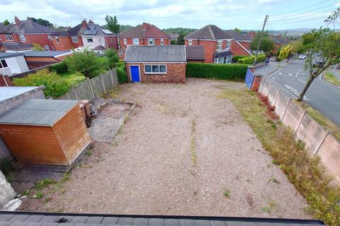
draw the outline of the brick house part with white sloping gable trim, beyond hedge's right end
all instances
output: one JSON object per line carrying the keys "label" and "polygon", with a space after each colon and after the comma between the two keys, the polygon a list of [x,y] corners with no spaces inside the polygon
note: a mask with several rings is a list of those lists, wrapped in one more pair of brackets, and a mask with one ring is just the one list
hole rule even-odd
{"label": "brick house part with white sloping gable trim, beyond hedge's right end", "polygon": [[237,30],[226,30],[225,32],[233,38],[230,51],[234,56],[252,56],[249,48],[251,42],[250,37],[246,37]]}

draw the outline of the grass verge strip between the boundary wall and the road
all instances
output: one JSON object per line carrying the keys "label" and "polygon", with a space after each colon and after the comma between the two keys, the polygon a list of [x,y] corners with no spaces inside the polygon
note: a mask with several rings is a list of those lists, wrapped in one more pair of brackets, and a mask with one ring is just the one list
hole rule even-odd
{"label": "grass verge strip between the boundary wall and the road", "polygon": [[312,117],[315,121],[317,121],[318,124],[324,127],[324,129],[327,129],[331,131],[331,134],[338,138],[340,140],[340,127],[336,126],[331,120],[329,120],[327,117],[325,117],[323,114],[318,112],[316,109],[310,107],[310,105],[307,105],[304,102],[298,102],[295,101],[297,105],[302,107],[307,111],[307,114]]}

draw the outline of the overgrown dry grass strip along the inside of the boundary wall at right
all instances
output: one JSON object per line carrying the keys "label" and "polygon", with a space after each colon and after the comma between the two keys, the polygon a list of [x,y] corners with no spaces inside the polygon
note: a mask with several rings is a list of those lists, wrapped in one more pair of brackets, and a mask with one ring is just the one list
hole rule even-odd
{"label": "overgrown dry grass strip along the inside of the boundary wall at right", "polygon": [[310,204],[309,210],[314,218],[323,220],[327,225],[340,225],[340,189],[329,184],[331,177],[319,165],[319,157],[310,157],[304,145],[293,139],[289,129],[280,121],[268,117],[268,109],[256,93],[244,89],[226,89],[218,97],[234,103],[263,148]]}

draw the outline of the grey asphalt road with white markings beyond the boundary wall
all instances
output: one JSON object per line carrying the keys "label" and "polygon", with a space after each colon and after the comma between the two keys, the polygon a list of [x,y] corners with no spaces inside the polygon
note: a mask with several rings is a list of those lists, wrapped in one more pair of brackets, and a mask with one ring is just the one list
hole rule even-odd
{"label": "grey asphalt road with white markings beyond the boundary wall", "polygon": [[[283,63],[283,67],[278,69],[277,64],[271,62],[269,66],[256,69],[255,73],[266,76],[289,97],[297,98],[309,78],[304,64],[305,60],[291,59],[289,64]],[[304,101],[340,126],[340,87],[327,83],[320,75],[310,85]]]}

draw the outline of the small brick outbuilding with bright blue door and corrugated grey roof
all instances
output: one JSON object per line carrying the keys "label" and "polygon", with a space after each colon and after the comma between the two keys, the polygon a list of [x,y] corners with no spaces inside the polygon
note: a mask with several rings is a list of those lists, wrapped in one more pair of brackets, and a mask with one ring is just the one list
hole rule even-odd
{"label": "small brick outbuilding with bright blue door and corrugated grey roof", "polygon": [[185,83],[184,45],[128,45],[125,69],[131,82]]}

